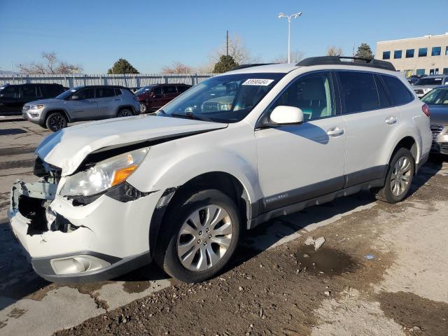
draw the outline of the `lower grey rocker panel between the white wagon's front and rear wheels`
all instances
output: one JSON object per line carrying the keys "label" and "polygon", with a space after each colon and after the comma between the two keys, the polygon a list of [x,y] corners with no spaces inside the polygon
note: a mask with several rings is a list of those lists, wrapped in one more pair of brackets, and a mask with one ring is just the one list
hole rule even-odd
{"label": "lower grey rocker panel between the white wagon's front and rear wheels", "polygon": [[286,216],[288,214],[293,214],[297,211],[302,211],[307,207],[312,207],[313,205],[323,204],[326,202],[331,202],[335,200],[335,198],[353,195],[359,193],[360,190],[369,190],[371,188],[382,187],[384,186],[385,179],[374,179],[371,181],[367,181],[364,183],[357,184],[356,186],[350,186],[348,188],[344,188],[342,190],[335,191],[333,193],[328,193],[322,196],[314,197],[309,200],[305,200],[302,202],[298,202],[295,204],[290,204],[286,207],[281,207],[279,209],[274,209],[264,214],[260,214],[257,217],[251,219],[248,223],[248,229],[253,229],[255,226],[260,225],[261,223],[265,223],[272,218],[276,218],[279,216]]}

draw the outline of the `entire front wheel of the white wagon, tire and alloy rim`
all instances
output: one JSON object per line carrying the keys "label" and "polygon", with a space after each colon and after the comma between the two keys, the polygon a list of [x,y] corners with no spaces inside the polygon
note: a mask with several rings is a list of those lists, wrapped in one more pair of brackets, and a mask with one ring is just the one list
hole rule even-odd
{"label": "entire front wheel of the white wagon, tire and alloy rim", "polygon": [[232,258],[241,223],[237,206],[219,190],[180,197],[159,233],[155,261],[167,274],[195,283],[215,276]]}

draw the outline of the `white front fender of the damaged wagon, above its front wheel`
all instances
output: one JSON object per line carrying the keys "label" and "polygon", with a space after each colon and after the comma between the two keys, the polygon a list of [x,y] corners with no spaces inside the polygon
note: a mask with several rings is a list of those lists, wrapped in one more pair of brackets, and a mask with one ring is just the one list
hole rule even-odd
{"label": "white front fender of the damaged wagon, above its front wheel", "polygon": [[209,172],[235,176],[251,202],[260,198],[255,138],[250,125],[242,121],[153,146],[127,181],[148,192],[182,186]]}

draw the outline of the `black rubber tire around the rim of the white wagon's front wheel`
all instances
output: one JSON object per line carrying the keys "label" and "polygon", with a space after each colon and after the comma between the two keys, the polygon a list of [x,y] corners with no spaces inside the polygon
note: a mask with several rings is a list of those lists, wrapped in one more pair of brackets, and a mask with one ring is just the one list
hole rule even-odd
{"label": "black rubber tire around the rim of the white wagon's front wheel", "polygon": [[[233,253],[235,253],[239,243],[241,221],[237,206],[228,195],[214,189],[192,191],[191,193],[181,195],[174,202],[174,204],[170,205],[170,209],[167,210],[169,213],[165,216],[162,227],[160,228],[159,238],[155,247],[155,262],[167,274],[184,282],[196,283],[210,279],[225,267],[230,258],[232,258]],[[201,271],[191,270],[182,265],[181,257],[178,255],[178,241],[181,239],[180,231],[190,214],[193,214],[197,209],[202,209],[209,205],[212,207],[218,206],[227,211],[232,221],[231,241],[227,251],[216,262],[216,265],[208,266],[209,268]],[[193,244],[196,244],[196,239],[194,241]],[[200,240],[197,241],[197,244],[200,245],[193,248],[202,247]],[[205,244],[206,241],[204,241]],[[214,243],[211,242],[209,248],[211,248],[212,244]],[[210,260],[207,256],[207,264]]]}

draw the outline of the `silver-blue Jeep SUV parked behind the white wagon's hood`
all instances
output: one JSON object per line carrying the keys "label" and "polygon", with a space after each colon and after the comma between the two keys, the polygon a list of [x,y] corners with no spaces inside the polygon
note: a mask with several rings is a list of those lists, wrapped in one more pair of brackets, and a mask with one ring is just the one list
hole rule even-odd
{"label": "silver-blue Jeep SUV parked behind the white wagon's hood", "polygon": [[23,106],[24,119],[53,132],[80,120],[134,116],[140,113],[137,97],[123,86],[79,86],[54,99],[42,99]]}

